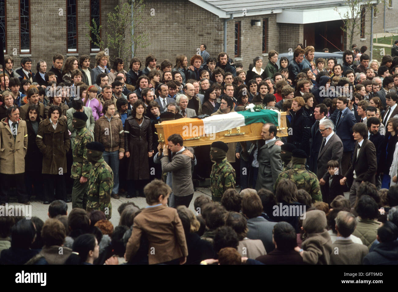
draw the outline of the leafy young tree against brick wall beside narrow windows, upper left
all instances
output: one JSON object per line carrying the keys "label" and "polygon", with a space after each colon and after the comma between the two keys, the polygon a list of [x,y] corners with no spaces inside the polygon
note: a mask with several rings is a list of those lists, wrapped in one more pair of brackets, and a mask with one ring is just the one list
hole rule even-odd
{"label": "leafy young tree against brick wall beside narrow windows, upper left", "polygon": [[150,20],[150,17],[142,17],[145,9],[143,2],[143,0],[128,0],[121,6],[115,6],[114,11],[107,14],[108,31],[105,31],[104,38],[101,38],[102,25],[98,25],[92,19],[91,25],[86,23],[91,35],[86,36],[101,51],[109,52],[112,49],[113,58],[120,57],[123,60],[133,58],[138,48],[149,45],[145,33],[134,33],[137,27]]}

